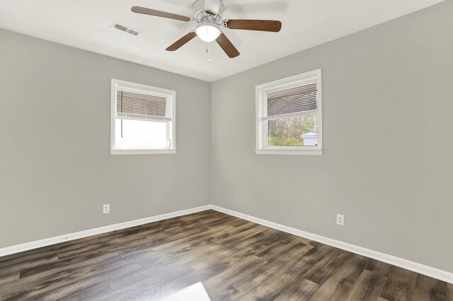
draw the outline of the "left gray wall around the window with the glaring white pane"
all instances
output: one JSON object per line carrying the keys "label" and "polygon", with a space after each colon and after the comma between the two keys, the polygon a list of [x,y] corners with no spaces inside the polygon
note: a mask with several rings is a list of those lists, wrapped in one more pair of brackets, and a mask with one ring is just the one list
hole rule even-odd
{"label": "left gray wall around the window with the glaring white pane", "polygon": [[[110,78],[176,90],[176,155],[110,155]],[[210,203],[209,83],[0,30],[0,90],[0,247]]]}

